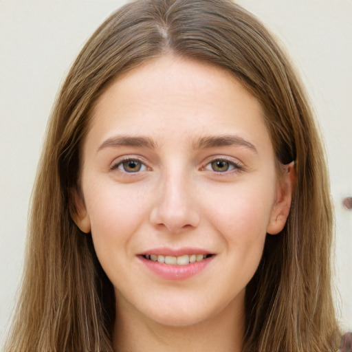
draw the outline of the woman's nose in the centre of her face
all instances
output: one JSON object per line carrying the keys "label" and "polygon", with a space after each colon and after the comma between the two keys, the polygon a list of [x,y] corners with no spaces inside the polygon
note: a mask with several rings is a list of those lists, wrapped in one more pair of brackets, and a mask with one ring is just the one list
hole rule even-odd
{"label": "woman's nose in the centre of her face", "polygon": [[157,189],[151,223],[171,233],[196,228],[200,220],[196,198],[190,177],[177,171],[166,175]]}

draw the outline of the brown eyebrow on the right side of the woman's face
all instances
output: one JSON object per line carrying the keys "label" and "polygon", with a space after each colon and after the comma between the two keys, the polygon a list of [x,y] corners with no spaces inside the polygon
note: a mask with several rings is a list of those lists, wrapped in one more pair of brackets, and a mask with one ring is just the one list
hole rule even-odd
{"label": "brown eyebrow on the right side of the woman's face", "polygon": [[238,135],[216,135],[200,137],[195,143],[195,148],[214,148],[218,146],[243,146],[258,153],[254,144]]}

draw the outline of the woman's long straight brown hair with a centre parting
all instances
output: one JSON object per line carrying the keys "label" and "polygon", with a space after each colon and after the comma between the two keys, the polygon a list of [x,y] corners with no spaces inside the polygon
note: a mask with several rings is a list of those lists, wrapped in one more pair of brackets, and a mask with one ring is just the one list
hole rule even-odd
{"label": "woman's long straight brown hair with a centre parting", "polygon": [[98,96],[163,54],[228,69],[263,107],[276,158],[295,162],[284,230],[267,235],[248,284],[243,352],[338,347],[331,296],[333,215],[327,167],[302,85],[259,21],[228,0],[138,0],[91,36],[53,109],[39,165],[19,306],[5,351],[113,351],[113,287],[91,236],[72,220],[80,149]]}

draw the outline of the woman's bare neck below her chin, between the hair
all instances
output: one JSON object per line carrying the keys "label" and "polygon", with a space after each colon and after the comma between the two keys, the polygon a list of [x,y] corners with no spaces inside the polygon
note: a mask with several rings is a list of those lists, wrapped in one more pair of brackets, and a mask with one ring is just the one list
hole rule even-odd
{"label": "woman's bare neck below her chin, between the hair", "polygon": [[239,309],[230,303],[218,314],[188,326],[163,325],[119,307],[116,313],[116,352],[240,352],[242,348],[243,305]]}

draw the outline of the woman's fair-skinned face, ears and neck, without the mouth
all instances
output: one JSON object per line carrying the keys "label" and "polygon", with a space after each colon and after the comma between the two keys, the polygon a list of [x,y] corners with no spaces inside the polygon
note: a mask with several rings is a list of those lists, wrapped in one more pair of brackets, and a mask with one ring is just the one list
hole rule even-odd
{"label": "woman's fair-skinned face, ears and neck, without the mouth", "polygon": [[[199,145],[224,135],[232,143]],[[147,61],[100,96],[81,171],[74,218],[115,287],[116,351],[241,351],[245,287],[294,183],[292,165],[278,173],[259,102],[219,67]],[[166,280],[138,256],[160,247],[214,255]]]}

